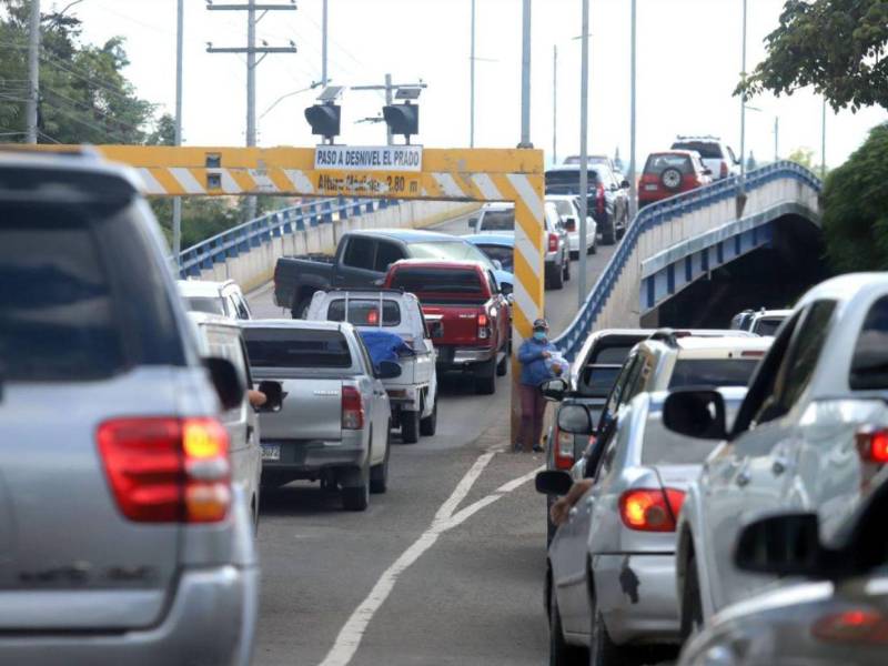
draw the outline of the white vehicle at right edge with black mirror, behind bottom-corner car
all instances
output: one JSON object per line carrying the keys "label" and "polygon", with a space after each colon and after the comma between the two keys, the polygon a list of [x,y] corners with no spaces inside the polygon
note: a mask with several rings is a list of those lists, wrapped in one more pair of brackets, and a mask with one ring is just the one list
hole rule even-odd
{"label": "white vehicle at right edge with black mirror, behind bottom-corner car", "polygon": [[814,287],[784,322],[730,430],[709,391],[673,392],[664,423],[720,440],[688,488],[678,525],[685,635],[773,576],[740,572],[740,528],[770,512],[815,512],[829,545],[888,463],[888,273]]}

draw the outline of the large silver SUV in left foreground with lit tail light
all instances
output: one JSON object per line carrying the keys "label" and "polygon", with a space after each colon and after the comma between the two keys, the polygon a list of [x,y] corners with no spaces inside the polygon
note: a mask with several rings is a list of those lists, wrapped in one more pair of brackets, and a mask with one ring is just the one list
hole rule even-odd
{"label": "large silver SUV in left foreground with lit tail light", "polygon": [[[129,171],[0,153],[0,663],[246,664],[259,566]],[[208,373],[208,367],[210,373]]]}

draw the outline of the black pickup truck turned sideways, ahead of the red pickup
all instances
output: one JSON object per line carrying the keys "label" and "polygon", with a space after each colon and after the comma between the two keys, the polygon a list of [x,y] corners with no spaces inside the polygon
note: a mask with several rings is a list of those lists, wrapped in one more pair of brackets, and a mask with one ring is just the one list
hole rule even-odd
{"label": "black pickup truck turned sideways, ahead of the red pickup", "polygon": [[[302,319],[314,292],[329,287],[382,284],[389,266],[402,259],[477,261],[500,273],[486,254],[458,236],[412,229],[352,231],[333,256],[282,256],[274,266],[274,302]],[[511,285],[509,285],[511,289]]]}

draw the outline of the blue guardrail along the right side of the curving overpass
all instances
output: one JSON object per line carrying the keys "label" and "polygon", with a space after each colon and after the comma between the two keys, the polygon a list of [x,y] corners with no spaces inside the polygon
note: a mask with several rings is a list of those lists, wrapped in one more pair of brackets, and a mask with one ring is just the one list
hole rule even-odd
{"label": "blue guardrail along the right side of the curving overpass", "polygon": [[[814,190],[820,190],[820,180],[810,171],[795,162],[781,161],[768,164],[761,169],[746,174],[744,191],[750,192],[780,179],[794,179]],[[643,234],[667,222],[678,220],[697,210],[724,203],[726,200],[736,199],[740,191],[739,176],[730,176],[715,182],[705,188],[692,190],[664,201],[649,204],[642,209],[626,230],[617,251],[610,258],[595,285],[586,296],[583,306],[577,312],[574,321],[555,341],[555,345],[564,355],[573,361],[583,342],[592,333],[596,320],[614,292],[630,258],[636,252],[638,241]],[[723,220],[720,223],[729,222]],[[660,248],[663,250],[665,248]],[[638,264],[645,258],[636,258]]]}

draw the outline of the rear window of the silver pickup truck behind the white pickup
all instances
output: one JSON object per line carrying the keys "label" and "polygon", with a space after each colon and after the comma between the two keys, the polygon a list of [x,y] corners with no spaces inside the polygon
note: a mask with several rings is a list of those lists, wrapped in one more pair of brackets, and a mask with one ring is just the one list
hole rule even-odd
{"label": "rear window of the silver pickup truck behind the white pickup", "polygon": [[352,354],[340,331],[244,329],[253,367],[351,367]]}

